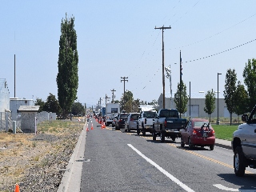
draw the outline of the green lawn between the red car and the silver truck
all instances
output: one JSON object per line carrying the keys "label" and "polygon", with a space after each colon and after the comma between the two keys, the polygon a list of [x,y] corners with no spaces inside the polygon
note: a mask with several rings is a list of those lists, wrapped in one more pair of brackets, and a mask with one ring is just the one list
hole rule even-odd
{"label": "green lawn between the red car and the silver truck", "polygon": [[215,130],[215,137],[232,141],[233,133],[235,130],[238,130],[238,125],[214,125],[212,124]]}

